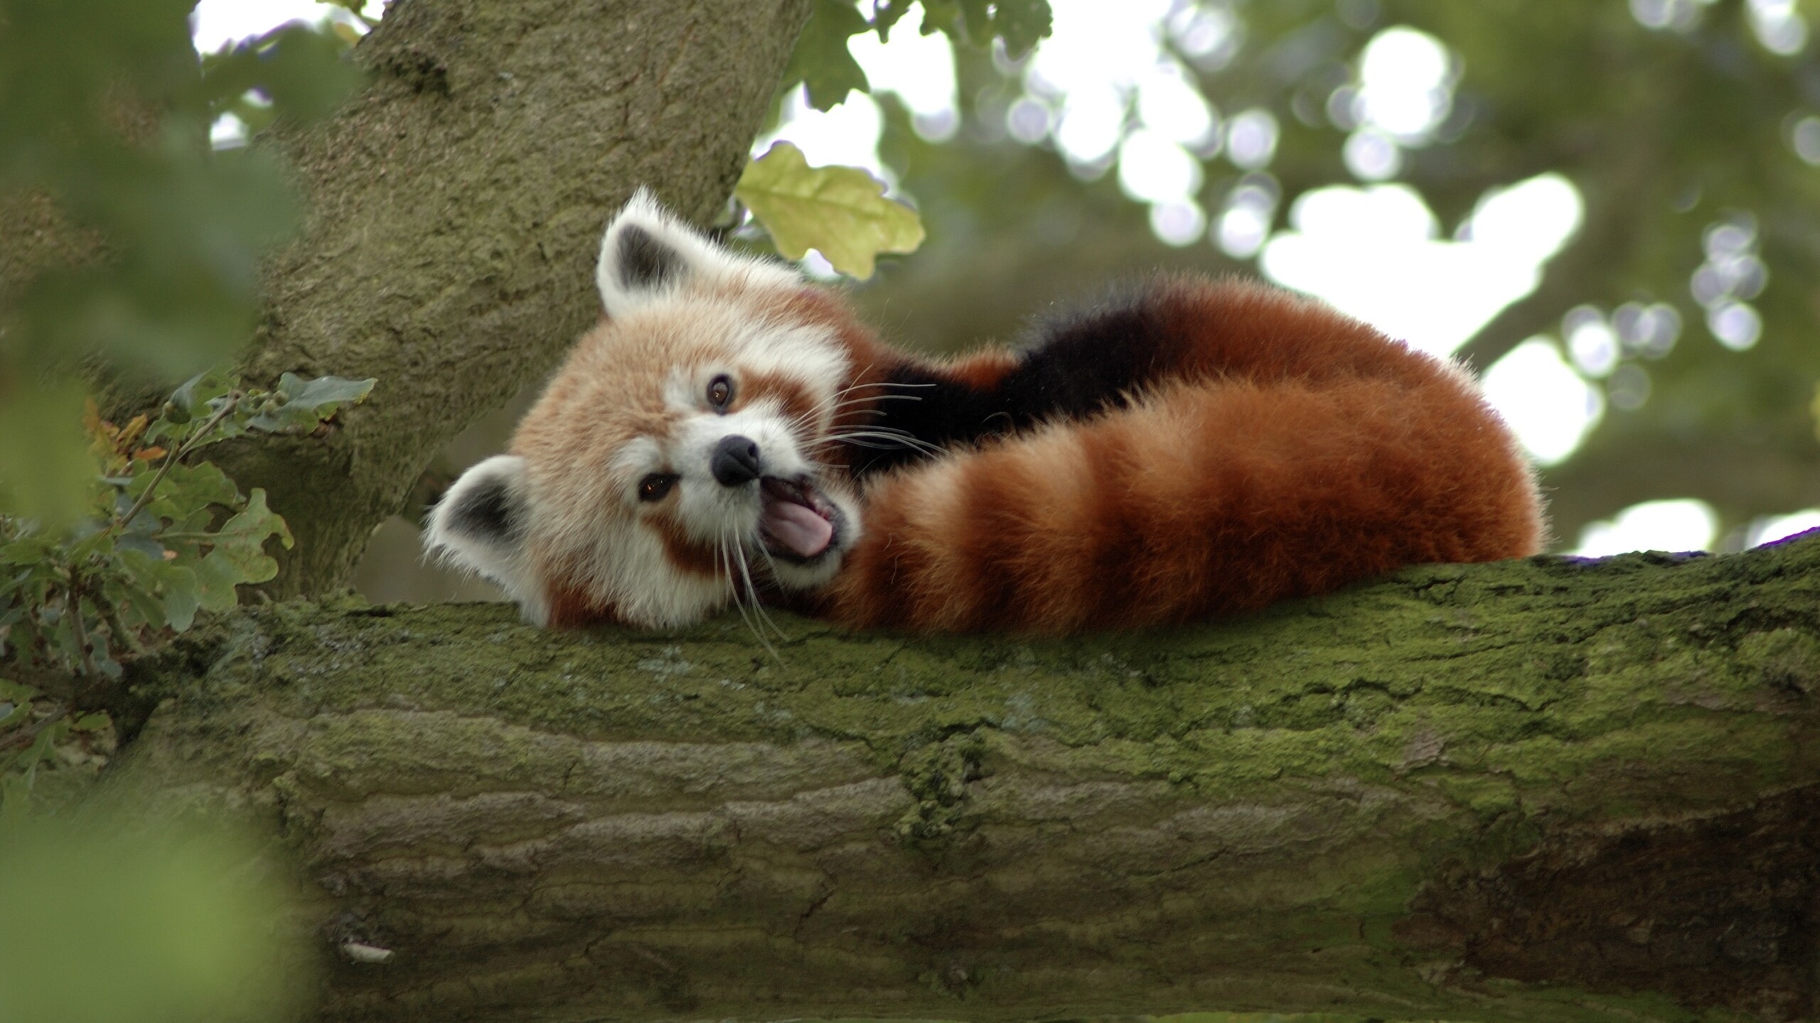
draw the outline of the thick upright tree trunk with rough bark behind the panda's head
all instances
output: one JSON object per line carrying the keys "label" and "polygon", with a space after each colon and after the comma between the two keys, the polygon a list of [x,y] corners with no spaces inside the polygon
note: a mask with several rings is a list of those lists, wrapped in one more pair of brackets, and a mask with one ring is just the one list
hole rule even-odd
{"label": "thick upright tree trunk with rough bark behind the panda's head", "polygon": [[450,437],[548,371],[599,317],[612,209],[652,186],[712,220],[808,0],[397,0],[355,47],[371,84],[278,138],[309,224],[266,268],[255,380],[377,377],[326,437],[237,446],[297,533],[271,586],[346,582]]}

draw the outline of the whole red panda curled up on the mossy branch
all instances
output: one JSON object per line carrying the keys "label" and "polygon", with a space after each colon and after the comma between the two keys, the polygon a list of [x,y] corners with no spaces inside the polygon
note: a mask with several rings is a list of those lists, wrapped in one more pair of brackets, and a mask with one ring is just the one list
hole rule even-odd
{"label": "whole red panda curled up on the mossy branch", "polygon": [[604,317],[428,548],[528,621],[764,601],[854,628],[1136,630],[1407,564],[1534,553],[1534,477],[1465,371],[1321,302],[1159,277],[925,359],[644,191]]}

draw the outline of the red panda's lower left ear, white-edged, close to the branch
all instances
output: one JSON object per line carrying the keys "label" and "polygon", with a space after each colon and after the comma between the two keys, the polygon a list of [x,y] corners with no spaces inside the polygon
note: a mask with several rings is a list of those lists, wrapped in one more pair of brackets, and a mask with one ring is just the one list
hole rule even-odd
{"label": "red panda's lower left ear, white-edged, close to the branch", "polygon": [[464,471],[430,510],[424,553],[499,582],[526,619],[539,621],[544,597],[524,561],[528,526],[524,459],[493,455]]}

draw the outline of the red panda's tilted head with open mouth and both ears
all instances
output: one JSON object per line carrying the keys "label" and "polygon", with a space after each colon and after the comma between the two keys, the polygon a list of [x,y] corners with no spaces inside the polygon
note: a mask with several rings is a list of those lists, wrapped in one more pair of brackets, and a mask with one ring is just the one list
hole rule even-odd
{"label": "red panda's tilted head with open mouth and both ears", "polygon": [[601,242],[606,319],[510,453],[430,515],[431,553],[539,624],[677,626],[812,590],[859,537],[826,437],[868,344],[792,269],[730,253],[639,191]]}

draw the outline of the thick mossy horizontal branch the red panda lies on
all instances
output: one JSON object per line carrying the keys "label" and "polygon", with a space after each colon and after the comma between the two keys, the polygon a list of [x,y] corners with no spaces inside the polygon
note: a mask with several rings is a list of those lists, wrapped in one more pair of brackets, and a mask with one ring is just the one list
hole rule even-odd
{"label": "thick mossy horizontal branch the red panda lies on", "polygon": [[1820,539],[1161,635],[783,624],[246,610],[140,668],[122,772],[393,952],[324,1019],[1820,1008]]}

